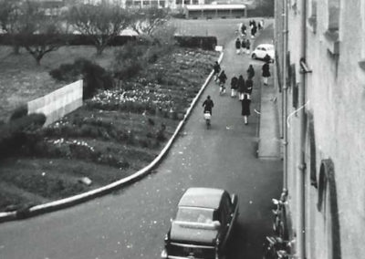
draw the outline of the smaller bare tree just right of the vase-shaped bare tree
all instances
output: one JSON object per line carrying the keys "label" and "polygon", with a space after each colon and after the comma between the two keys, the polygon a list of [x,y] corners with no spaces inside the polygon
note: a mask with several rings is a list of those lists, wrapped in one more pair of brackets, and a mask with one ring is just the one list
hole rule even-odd
{"label": "smaller bare tree just right of the vase-shaped bare tree", "polygon": [[151,36],[159,27],[163,26],[169,19],[166,9],[151,7],[137,9],[133,12],[131,27],[138,34]]}

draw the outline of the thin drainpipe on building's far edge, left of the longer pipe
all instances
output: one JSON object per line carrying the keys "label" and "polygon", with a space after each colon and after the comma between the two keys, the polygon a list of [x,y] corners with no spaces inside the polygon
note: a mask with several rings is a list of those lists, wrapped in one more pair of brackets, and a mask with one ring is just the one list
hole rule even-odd
{"label": "thin drainpipe on building's far edge, left of the longer pipe", "polygon": [[287,0],[284,0],[284,26],[283,26],[283,90],[282,90],[282,100],[283,100],[283,145],[284,145],[284,175],[283,175],[283,191],[287,190]]}

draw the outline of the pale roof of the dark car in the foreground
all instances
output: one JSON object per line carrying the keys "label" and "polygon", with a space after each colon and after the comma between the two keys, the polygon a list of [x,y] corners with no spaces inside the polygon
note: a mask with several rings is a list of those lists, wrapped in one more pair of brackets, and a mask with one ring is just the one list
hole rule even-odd
{"label": "pale roof of the dark car in the foreground", "polygon": [[179,202],[180,206],[186,207],[202,207],[202,208],[219,208],[224,190],[214,188],[189,188],[183,193],[183,197]]}

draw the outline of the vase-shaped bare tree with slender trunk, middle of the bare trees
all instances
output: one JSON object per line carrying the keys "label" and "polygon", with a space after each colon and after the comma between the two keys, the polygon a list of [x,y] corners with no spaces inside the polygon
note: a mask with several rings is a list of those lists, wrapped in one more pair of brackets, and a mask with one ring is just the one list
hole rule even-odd
{"label": "vase-shaped bare tree with slender trunk, middle of the bare trees", "polygon": [[130,26],[130,15],[118,5],[74,5],[68,11],[68,23],[79,33],[91,36],[97,54]]}

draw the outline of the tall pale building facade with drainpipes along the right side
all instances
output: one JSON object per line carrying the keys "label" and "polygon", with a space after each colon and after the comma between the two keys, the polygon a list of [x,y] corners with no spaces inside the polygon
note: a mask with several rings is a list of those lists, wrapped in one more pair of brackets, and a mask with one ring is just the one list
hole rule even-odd
{"label": "tall pale building facade with drainpipes along the right side", "polygon": [[364,258],[365,0],[282,0],[275,13],[291,253]]}

